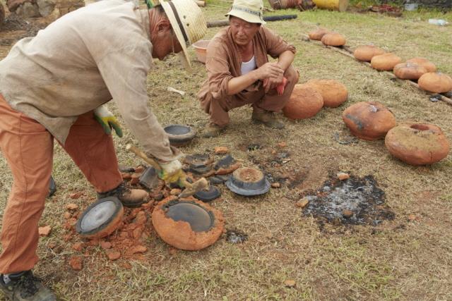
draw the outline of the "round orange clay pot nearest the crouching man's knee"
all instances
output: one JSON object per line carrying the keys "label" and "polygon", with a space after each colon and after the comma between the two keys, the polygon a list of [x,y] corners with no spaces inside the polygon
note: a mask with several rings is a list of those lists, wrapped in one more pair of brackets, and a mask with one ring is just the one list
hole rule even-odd
{"label": "round orange clay pot nearest the crouching man's knee", "polygon": [[313,87],[297,84],[283,108],[284,116],[290,119],[311,118],[323,107],[323,97]]}

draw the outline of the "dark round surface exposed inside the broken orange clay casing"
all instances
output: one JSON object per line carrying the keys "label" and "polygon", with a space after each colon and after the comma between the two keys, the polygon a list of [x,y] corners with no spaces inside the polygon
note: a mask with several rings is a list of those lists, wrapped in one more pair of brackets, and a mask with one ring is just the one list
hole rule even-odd
{"label": "dark round surface exposed inside the broken orange clay casing", "polygon": [[194,232],[209,231],[214,225],[213,215],[194,202],[177,202],[167,207],[166,216],[174,221],[186,221]]}

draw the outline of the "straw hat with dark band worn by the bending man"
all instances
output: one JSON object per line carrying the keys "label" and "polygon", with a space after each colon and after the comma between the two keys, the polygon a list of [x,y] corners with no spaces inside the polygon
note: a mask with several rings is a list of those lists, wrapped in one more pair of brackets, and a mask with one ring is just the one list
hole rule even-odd
{"label": "straw hat with dark band worn by the bending man", "polygon": [[182,63],[189,68],[191,63],[186,49],[202,39],[207,31],[206,19],[201,8],[193,0],[160,1],[160,5],[184,51],[183,54],[180,54]]}

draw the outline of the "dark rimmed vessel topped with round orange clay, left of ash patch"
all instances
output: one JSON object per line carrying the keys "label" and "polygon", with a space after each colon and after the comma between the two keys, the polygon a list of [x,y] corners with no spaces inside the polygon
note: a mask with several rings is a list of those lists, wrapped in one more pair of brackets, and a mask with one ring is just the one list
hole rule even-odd
{"label": "dark rimmed vessel topped with round orange clay, left of ash patch", "polygon": [[245,197],[263,195],[270,190],[270,182],[262,171],[249,167],[242,167],[234,171],[226,181],[226,186],[237,195]]}

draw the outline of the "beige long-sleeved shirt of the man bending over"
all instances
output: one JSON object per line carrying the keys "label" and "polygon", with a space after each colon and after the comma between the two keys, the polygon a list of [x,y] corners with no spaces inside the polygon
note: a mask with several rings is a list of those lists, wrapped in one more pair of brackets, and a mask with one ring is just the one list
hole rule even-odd
{"label": "beige long-sleeved shirt of the man bending over", "polygon": [[0,93],[63,144],[79,115],[113,99],[143,150],[169,161],[174,152],[147,106],[152,49],[147,10],[99,1],[14,45],[0,61]]}

